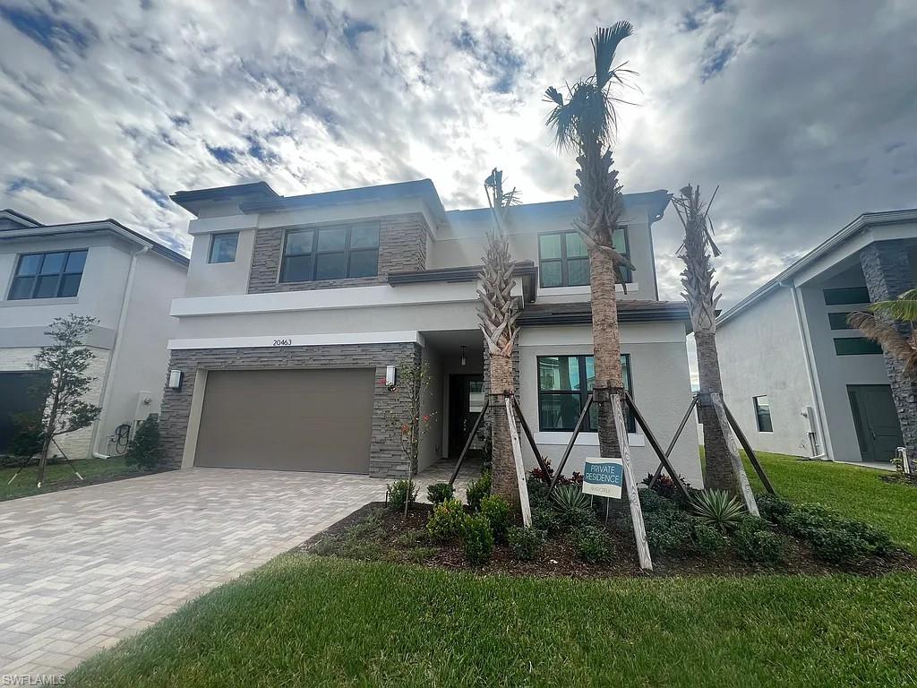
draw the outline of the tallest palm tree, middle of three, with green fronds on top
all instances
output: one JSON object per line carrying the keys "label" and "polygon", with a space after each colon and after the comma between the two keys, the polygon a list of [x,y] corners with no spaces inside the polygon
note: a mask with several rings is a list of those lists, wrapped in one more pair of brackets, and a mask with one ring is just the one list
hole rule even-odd
{"label": "tallest palm tree, middle of three, with green fronds on top", "polygon": [[[624,386],[621,372],[621,338],[618,331],[615,283],[624,284],[624,266],[634,266],[614,248],[612,236],[624,209],[618,173],[613,170],[611,144],[617,126],[613,86],[621,85],[630,70],[613,66],[614,53],[622,40],[633,35],[630,22],[619,21],[600,28],[592,39],[595,73],[568,87],[567,98],[553,86],[545,92],[554,104],[547,125],[554,129],[561,150],[577,155],[580,215],[574,226],[589,251],[592,298],[592,347],[595,386]],[[599,404],[599,449],[602,456],[618,457],[617,432],[609,404]]]}

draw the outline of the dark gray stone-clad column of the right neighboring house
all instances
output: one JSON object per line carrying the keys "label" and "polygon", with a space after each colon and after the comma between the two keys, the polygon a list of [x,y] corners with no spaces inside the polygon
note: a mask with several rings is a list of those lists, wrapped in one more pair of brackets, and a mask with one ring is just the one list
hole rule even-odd
{"label": "dark gray stone-clad column of the right neighboring house", "polygon": [[[869,301],[872,303],[898,298],[913,288],[911,261],[908,259],[907,247],[900,239],[869,244],[860,251],[860,264],[863,266]],[[892,325],[905,336],[911,334],[911,326],[907,323],[896,322]],[[913,461],[917,458],[917,383],[904,374],[901,361],[888,353],[884,356],[891,384],[891,398],[898,411],[901,437]]]}

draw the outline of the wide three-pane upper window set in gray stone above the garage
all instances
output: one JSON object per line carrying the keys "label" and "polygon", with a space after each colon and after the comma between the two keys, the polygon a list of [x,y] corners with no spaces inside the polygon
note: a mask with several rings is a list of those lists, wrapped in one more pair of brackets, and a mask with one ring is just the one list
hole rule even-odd
{"label": "wide three-pane upper window set in gray stone above the garage", "polygon": [[280,281],[375,277],[378,267],[378,222],[290,229],[283,245]]}

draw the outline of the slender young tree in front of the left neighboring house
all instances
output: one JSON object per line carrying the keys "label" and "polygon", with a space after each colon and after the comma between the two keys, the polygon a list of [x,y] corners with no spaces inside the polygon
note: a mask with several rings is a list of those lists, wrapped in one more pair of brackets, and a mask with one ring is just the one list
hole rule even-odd
{"label": "slender young tree in front of the left neighboring house", "polygon": [[42,347],[35,356],[35,368],[50,373],[48,397],[40,419],[39,487],[45,478],[51,441],[89,427],[102,411],[101,406],[83,401],[95,379],[86,374],[95,354],[83,345],[83,338],[96,322],[94,317],[73,314],[54,318],[45,332],[53,343]]}

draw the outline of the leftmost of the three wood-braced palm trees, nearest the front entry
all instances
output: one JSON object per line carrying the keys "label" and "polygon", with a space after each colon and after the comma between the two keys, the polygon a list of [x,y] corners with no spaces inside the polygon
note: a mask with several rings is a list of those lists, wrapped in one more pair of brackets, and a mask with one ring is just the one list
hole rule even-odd
{"label": "leftmost of the three wood-braced palm trees, nearest the front entry", "polygon": [[[519,202],[519,193],[515,189],[503,191],[503,172],[496,168],[484,181],[484,192],[493,213],[493,225],[487,232],[487,251],[481,268],[478,315],[488,352],[490,391],[500,394],[514,391],[513,350],[519,330],[515,325],[514,263],[505,226],[510,206]],[[521,506],[513,444],[501,408],[497,405],[491,414],[492,493],[500,494],[518,512]]]}

